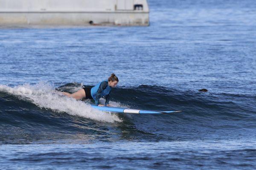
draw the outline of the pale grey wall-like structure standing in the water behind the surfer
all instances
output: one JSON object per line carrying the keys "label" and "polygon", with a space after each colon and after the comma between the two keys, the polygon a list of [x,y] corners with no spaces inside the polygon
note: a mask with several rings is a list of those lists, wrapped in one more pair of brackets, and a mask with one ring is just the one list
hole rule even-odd
{"label": "pale grey wall-like structure standing in the water behind the surfer", "polygon": [[146,0],[0,0],[0,26],[148,26]]}

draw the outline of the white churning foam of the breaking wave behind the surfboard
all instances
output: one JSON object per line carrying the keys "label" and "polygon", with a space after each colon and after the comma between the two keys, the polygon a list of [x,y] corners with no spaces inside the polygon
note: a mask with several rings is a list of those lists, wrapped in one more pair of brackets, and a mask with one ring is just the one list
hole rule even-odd
{"label": "white churning foam of the breaking wave behind the surfboard", "polygon": [[13,88],[0,85],[0,91],[20,96],[22,99],[29,100],[38,105],[40,108],[47,108],[56,112],[66,112],[70,115],[82,116],[101,122],[122,121],[115,114],[111,115],[111,113],[98,111],[82,101],[76,101],[76,99],[55,91],[51,85],[44,82],[36,85],[18,85]]}

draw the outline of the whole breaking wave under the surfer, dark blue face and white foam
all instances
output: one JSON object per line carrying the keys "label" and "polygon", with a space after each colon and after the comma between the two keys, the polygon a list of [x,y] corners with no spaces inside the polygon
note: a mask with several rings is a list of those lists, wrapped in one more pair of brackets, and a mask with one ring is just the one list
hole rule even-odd
{"label": "whole breaking wave under the surfer, dark blue face and white foam", "polygon": [[228,134],[231,129],[241,131],[243,128],[251,133],[250,129],[256,128],[255,96],[203,93],[155,85],[114,88],[111,105],[183,111],[169,115],[129,115],[97,111],[90,107],[91,101],[76,101],[61,93],[73,93],[82,87],[80,83],[69,83],[55,89],[44,82],[14,87],[0,85],[0,134],[8,139],[10,134],[22,134],[25,139],[32,135],[33,140],[40,138],[42,133],[47,139],[83,134],[74,138],[115,140],[115,135],[119,134],[125,139],[136,136],[144,140],[172,140],[174,134],[176,139],[185,139],[194,138],[191,133],[201,132],[204,138],[209,131],[222,133],[226,130]]}

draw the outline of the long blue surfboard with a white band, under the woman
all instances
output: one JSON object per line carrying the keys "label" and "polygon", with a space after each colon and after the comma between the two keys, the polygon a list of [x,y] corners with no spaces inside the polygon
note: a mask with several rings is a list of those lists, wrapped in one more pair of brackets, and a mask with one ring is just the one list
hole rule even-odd
{"label": "long blue surfboard with a white band, under the woman", "polygon": [[140,109],[118,108],[118,107],[107,107],[107,106],[96,106],[96,105],[91,105],[91,106],[100,111],[108,111],[108,112],[115,112],[115,113],[165,114],[165,113],[181,112],[181,111],[148,111],[148,110],[140,110]]}

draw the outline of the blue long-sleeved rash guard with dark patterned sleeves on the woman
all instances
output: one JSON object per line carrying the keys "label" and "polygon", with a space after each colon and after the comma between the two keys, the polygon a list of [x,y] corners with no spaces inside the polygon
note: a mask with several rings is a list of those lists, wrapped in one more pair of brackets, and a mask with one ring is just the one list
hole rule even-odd
{"label": "blue long-sleeved rash guard with dark patterned sleeves on the woman", "polygon": [[111,91],[111,87],[108,85],[108,81],[102,81],[96,84],[91,89],[91,96],[95,100],[95,104],[99,105],[99,99],[102,96],[105,96],[105,99],[106,99],[105,105],[108,105],[109,98],[110,98],[110,91]]}

